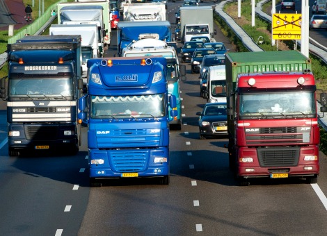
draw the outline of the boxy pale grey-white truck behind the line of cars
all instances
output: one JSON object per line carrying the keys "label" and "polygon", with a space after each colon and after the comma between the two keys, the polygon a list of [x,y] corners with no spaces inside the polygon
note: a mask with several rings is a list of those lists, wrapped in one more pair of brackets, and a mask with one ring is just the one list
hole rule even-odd
{"label": "boxy pale grey-white truck behind the line of cars", "polygon": [[180,7],[182,43],[190,41],[193,36],[206,36],[214,40],[214,10],[211,6]]}

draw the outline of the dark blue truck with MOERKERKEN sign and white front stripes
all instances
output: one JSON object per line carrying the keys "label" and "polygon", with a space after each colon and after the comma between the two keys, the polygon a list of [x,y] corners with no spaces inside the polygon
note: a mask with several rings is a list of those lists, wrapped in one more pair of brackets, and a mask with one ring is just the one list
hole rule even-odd
{"label": "dark blue truck with MOERKERKEN sign and white front stripes", "polygon": [[79,151],[77,99],[82,95],[81,35],[26,36],[8,44],[8,153]]}

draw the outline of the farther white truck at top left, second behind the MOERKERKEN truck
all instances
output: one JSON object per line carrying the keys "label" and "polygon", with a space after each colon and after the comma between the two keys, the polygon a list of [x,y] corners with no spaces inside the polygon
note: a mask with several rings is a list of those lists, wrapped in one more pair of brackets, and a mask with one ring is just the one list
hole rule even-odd
{"label": "farther white truck at top left, second behind the MOERKERKEN truck", "polygon": [[109,0],[58,3],[58,24],[96,24],[104,50],[111,43]]}

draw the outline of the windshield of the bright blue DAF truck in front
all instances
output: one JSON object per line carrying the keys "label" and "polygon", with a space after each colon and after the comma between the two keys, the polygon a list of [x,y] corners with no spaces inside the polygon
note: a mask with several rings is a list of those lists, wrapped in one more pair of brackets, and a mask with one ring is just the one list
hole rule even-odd
{"label": "windshield of the bright blue DAF truck in front", "polygon": [[91,118],[162,117],[163,94],[141,96],[91,96]]}

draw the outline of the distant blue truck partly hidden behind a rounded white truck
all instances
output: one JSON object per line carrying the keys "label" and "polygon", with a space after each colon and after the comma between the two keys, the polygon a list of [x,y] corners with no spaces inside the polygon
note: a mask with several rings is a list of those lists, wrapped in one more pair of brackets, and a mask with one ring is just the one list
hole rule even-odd
{"label": "distant blue truck partly hidden behind a rounded white truck", "polygon": [[117,44],[118,55],[129,44],[145,38],[154,38],[165,42],[172,42],[170,22],[118,22]]}

